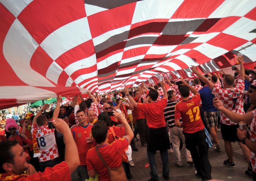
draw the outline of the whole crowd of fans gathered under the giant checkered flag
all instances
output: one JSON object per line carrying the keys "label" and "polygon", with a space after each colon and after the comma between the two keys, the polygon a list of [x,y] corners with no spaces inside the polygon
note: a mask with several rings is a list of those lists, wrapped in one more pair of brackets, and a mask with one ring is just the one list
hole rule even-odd
{"label": "whole crowd of fans gathered under the giant checkered flag", "polygon": [[[99,180],[116,180],[109,169],[119,171],[118,180],[131,179],[132,151],[140,151],[135,144],[139,140],[147,147],[150,181],[159,180],[156,151],[165,180],[169,180],[168,149],[173,148],[176,164],[182,167],[182,145],[195,175],[210,180],[208,148],[213,143],[215,151],[225,149],[223,163],[235,167],[231,143],[236,141],[248,162],[245,174],[255,180],[256,69],[244,69],[239,61],[234,75],[223,71],[202,75],[192,67],[194,80],[165,77],[156,85],[142,82],[137,88],[103,95],[88,92],[86,98],[74,96],[67,106],[61,106],[58,95],[54,104],[1,115],[0,180],[70,180],[77,168],[81,181],[96,175]],[[248,129],[239,127],[241,121]],[[207,140],[209,134],[212,141]]]}

